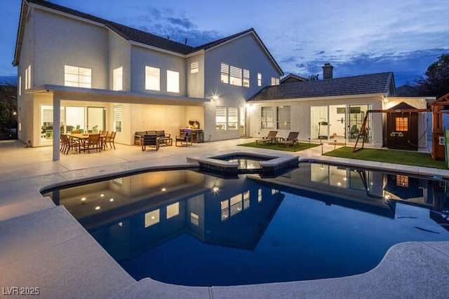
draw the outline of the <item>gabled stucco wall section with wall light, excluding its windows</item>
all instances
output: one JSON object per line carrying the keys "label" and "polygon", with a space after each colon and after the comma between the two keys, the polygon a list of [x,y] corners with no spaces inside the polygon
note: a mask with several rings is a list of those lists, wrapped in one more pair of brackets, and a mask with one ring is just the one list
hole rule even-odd
{"label": "gabled stucco wall section with wall light, excluding its windows", "polygon": [[[239,130],[215,131],[215,106],[244,107],[246,99],[255,95],[265,85],[271,84],[271,77],[280,74],[272,64],[253,34],[206,50],[204,62],[204,97],[217,95],[218,99],[205,106],[205,140],[216,141],[239,138]],[[221,83],[221,64],[226,63],[250,71],[250,87]],[[257,86],[257,73],[262,74],[262,86]]]}

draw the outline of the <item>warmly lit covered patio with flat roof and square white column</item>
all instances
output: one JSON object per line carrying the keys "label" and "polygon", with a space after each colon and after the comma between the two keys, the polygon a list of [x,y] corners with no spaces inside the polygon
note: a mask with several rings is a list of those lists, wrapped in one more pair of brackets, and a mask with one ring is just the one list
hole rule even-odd
{"label": "warmly lit covered patio with flat roof and square white column", "polygon": [[[79,129],[86,132],[91,132],[92,130],[118,132],[116,143],[133,144],[134,132],[136,131],[165,129],[173,131],[172,134],[174,135],[177,134],[176,131],[180,128],[185,127],[191,119],[199,120],[200,123],[203,123],[203,105],[205,102],[209,102],[209,99],[203,98],[72,88],[61,85],[42,85],[39,88],[29,90],[29,95],[32,96],[32,105],[47,105],[47,111],[52,113],[50,116],[46,116],[48,120],[51,120],[48,121],[48,123],[51,123],[51,130],[46,130],[48,131],[48,141],[39,141],[41,134],[43,134],[42,130],[45,129],[42,128],[46,124],[46,122],[43,122],[43,109],[39,107],[39,109],[34,109],[34,111],[41,111],[41,116],[19,120],[24,128],[26,126],[32,127],[32,129],[27,128],[27,132],[32,131],[32,137],[26,138],[22,133],[22,135],[19,134],[19,138],[24,141],[25,139],[31,140],[32,146],[52,145],[53,160],[55,161],[60,160],[60,139],[53,138],[53,136],[67,133],[67,127],[73,129],[76,123],[78,123],[77,127]],[[75,114],[77,112],[75,110],[81,110],[82,119],[76,123],[67,124],[66,119],[69,119],[69,116],[67,114],[67,117],[65,117],[65,111],[69,108]],[[93,111],[93,109],[100,112]],[[83,111],[87,111],[87,113],[92,111],[92,113],[84,116]],[[120,115],[120,120],[117,119],[117,114]],[[88,118],[90,115],[100,120],[95,123],[89,123]],[[87,119],[84,120],[84,118]],[[53,125],[53,123],[60,123],[60,125]],[[89,125],[91,125],[90,128]]]}

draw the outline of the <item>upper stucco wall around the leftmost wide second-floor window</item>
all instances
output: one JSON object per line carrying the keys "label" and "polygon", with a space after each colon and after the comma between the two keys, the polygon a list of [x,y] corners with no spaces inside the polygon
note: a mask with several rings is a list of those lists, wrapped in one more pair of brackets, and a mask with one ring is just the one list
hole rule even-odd
{"label": "upper stucco wall around the leftmost wide second-floor window", "polygon": [[92,69],[92,88],[108,88],[107,29],[34,9],[34,85],[64,85],[64,66]]}

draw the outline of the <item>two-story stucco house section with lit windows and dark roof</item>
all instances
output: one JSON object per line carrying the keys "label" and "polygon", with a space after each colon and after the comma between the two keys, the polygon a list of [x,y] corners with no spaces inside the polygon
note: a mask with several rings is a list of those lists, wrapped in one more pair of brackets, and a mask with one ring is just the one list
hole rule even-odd
{"label": "two-story stucco house section with lit windows and dark roof", "polygon": [[192,47],[42,0],[23,0],[18,139],[53,144],[60,133],[179,134],[190,120],[204,141],[247,134],[246,100],[283,72],[254,29]]}

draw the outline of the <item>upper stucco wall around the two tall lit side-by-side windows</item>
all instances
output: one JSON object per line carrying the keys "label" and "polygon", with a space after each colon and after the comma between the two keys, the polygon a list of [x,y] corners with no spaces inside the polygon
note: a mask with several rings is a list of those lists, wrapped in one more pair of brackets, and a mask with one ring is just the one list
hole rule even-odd
{"label": "upper stucco wall around the two tall lit side-by-side windows", "polygon": [[[145,66],[160,69],[161,88],[145,90]],[[180,73],[180,92],[167,92],[167,70]],[[131,90],[134,92],[146,92],[155,95],[177,95],[185,97],[186,76],[185,58],[170,55],[140,46],[131,46]]]}

